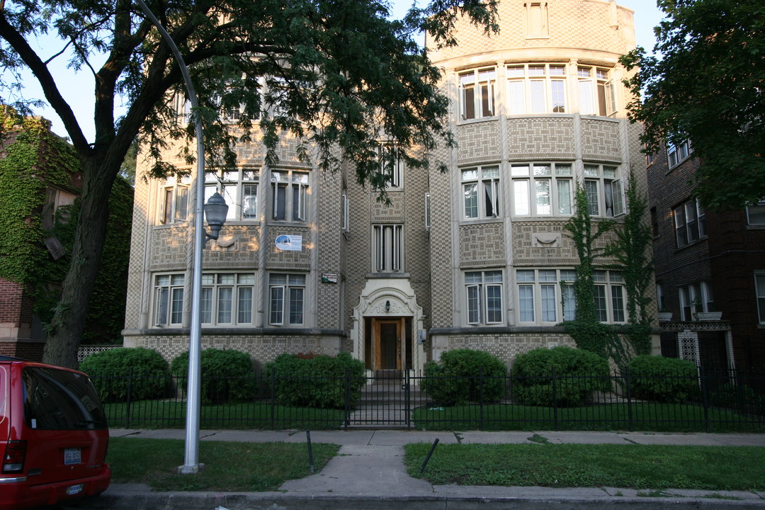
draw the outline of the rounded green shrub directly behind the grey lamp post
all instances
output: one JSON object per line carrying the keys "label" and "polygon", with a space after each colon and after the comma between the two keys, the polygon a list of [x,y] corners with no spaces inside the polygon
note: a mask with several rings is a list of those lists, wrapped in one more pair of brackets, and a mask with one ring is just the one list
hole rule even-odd
{"label": "rounded green shrub directly behind the grey lamp post", "polygon": [[[256,397],[256,378],[252,358],[246,352],[229,349],[203,349],[202,401],[205,404],[252,401]],[[189,352],[182,352],[170,363],[177,385],[187,391]]]}

